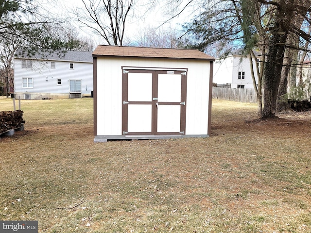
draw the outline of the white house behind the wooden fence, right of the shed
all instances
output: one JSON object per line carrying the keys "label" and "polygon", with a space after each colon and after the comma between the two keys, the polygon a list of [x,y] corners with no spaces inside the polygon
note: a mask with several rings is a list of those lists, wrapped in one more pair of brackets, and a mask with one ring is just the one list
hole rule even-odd
{"label": "white house behind the wooden fence, right of the shed", "polygon": [[[255,80],[258,83],[255,59],[253,59],[253,68]],[[225,59],[216,59],[213,83],[217,86],[254,89],[249,57],[242,57],[241,50],[236,50]]]}

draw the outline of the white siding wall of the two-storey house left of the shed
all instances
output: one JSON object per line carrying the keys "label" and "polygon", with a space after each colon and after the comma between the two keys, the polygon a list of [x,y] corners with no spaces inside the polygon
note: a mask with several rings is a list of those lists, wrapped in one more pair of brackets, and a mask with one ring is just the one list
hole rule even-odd
{"label": "white siding wall of the two-storey house left of the shed", "polygon": [[[81,93],[90,94],[93,90],[93,64],[69,61],[34,61],[33,69],[22,69],[21,59],[14,60],[15,93],[69,94],[69,80],[81,80]],[[74,69],[69,68],[74,63]],[[22,78],[33,78],[33,88],[23,88]],[[61,84],[57,84],[57,80]]]}

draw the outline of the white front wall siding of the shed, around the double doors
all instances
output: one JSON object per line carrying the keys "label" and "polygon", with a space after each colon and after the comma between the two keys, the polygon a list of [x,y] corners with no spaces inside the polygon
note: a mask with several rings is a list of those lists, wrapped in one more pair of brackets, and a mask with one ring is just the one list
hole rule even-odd
{"label": "white front wall siding of the shed, around the double doors", "polygon": [[207,134],[209,61],[97,57],[97,135],[122,133],[121,67],[188,68],[186,134]]}

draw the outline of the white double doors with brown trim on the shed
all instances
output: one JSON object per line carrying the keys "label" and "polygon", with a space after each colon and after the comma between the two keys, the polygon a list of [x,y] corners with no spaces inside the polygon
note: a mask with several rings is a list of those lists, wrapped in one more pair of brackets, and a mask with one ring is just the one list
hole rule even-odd
{"label": "white double doors with brown trim on the shed", "polygon": [[186,70],[123,69],[122,133],[184,134],[186,85]]}

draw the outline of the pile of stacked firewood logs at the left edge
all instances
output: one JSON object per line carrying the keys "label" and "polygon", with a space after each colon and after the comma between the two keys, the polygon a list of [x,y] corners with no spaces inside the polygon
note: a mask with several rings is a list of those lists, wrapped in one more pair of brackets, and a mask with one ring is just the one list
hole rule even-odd
{"label": "pile of stacked firewood logs at the left edge", "polygon": [[23,126],[23,111],[0,112],[0,134]]}

